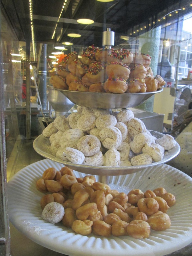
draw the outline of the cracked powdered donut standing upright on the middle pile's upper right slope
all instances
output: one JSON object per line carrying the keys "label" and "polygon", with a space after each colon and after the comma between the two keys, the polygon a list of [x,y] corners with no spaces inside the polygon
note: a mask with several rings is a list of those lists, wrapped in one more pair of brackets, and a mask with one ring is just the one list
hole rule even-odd
{"label": "cracked powdered donut standing upright on the middle pile's upper right slope", "polygon": [[145,124],[140,119],[134,117],[129,120],[127,123],[128,133],[133,138],[136,134],[145,132],[147,129]]}

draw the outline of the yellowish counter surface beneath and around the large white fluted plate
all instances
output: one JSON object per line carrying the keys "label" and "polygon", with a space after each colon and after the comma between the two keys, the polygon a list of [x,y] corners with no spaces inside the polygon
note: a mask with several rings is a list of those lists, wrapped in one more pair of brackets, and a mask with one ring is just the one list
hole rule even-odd
{"label": "yellowish counter surface beneath and around the large white fluted plate", "polygon": [[[43,159],[33,149],[33,140],[20,141],[21,145],[15,145],[11,157],[7,164],[7,176],[8,179],[17,173],[20,169],[32,164],[34,162]],[[18,150],[19,154],[18,154]],[[11,255],[12,256],[67,256],[52,250],[49,250],[39,244],[33,242],[19,232],[10,223],[10,236],[11,236]],[[192,236],[192,233],[191,233]],[[192,243],[176,252],[168,254],[166,256],[191,256],[192,255]],[[150,256],[150,255],[146,255]]]}

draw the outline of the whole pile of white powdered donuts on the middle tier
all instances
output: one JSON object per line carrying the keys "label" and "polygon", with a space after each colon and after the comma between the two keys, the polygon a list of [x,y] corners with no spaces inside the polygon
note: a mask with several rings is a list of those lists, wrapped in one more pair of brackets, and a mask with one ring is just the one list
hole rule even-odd
{"label": "whole pile of white powdered donuts on the middle tier", "polygon": [[135,166],[159,162],[176,145],[171,135],[156,138],[129,109],[77,107],[67,118],[57,116],[42,132],[51,153],[74,164]]}

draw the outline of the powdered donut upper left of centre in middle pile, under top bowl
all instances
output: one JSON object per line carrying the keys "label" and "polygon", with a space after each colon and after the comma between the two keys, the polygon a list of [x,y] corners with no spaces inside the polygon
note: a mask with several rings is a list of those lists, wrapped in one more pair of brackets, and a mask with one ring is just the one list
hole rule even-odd
{"label": "powdered donut upper left of centre in middle pile, under top bowl", "polygon": [[78,129],[82,130],[83,132],[89,131],[95,127],[95,120],[96,117],[92,113],[85,113],[77,121]]}

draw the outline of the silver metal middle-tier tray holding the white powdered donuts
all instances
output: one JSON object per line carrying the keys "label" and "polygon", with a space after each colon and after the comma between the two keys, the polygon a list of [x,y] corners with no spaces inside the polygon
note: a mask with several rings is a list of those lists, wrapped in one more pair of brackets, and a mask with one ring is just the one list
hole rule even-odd
{"label": "silver metal middle-tier tray holding the white powdered donuts", "polygon": [[[161,138],[164,134],[156,131],[150,131],[156,138]],[[152,164],[139,165],[139,166],[92,166],[83,164],[73,164],[67,161],[62,161],[61,159],[52,155],[50,151],[50,141],[49,138],[44,137],[42,134],[39,135],[33,142],[34,150],[41,156],[50,159],[54,162],[64,164],[69,168],[76,170],[81,173],[86,173],[90,175],[101,175],[101,176],[117,176],[126,175],[141,171],[147,167],[156,166],[159,164],[166,163],[177,156],[180,152],[180,146],[178,143],[169,151],[165,151],[164,157],[159,162],[154,162]]]}

